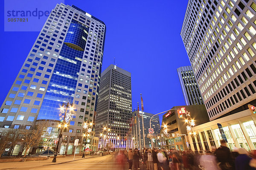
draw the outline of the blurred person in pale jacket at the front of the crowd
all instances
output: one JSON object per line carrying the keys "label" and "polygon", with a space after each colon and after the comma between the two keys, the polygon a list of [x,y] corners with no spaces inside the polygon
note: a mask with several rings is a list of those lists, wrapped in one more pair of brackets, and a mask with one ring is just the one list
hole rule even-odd
{"label": "blurred person in pale jacket at the front of the crowd", "polygon": [[199,162],[203,170],[219,170],[217,159],[209,150],[205,151],[205,155],[201,156]]}

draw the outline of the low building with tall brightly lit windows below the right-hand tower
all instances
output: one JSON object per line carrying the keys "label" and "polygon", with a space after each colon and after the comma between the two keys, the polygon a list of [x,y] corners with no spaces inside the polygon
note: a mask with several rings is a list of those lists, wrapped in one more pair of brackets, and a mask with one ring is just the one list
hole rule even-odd
{"label": "low building with tall brightly lit windows below the right-hand tower", "polygon": [[217,125],[219,123],[227,139],[230,150],[256,148],[256,116],[249,110],[241,111],[192,128],[195,134],[189,136],[192,150],[215,150],[223,139]]}

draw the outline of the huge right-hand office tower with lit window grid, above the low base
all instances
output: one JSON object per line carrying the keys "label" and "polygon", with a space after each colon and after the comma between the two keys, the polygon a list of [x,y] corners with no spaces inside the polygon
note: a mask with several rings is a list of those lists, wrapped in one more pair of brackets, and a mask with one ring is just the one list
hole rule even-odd
{"label": "huge right-hand office tower with lit window grid, above the low base", "polygon": [[189,0],[181,37],[210,120],[256,103],[256,2]]}

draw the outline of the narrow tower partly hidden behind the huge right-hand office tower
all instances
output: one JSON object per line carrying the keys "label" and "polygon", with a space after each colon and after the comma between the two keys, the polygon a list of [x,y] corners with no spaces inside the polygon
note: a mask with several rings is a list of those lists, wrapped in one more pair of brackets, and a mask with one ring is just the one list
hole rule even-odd
{"label": "narrow tower partly hidden behind the huge right-hand office tower", "polygon": [[177,68],[177,72],[186,105],[204,105],[192,66]]}

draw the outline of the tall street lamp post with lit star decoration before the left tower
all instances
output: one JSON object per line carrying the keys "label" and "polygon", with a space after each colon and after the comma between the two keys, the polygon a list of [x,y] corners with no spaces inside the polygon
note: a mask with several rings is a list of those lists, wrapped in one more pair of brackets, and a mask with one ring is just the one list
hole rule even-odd
{"label": "tall street lamp post with lit star decoration before the left tower", "polygon": [[[61,122],[61,124],[60,125],[58,125],[58,127],[61,127],[61,131],[60,131],[60,134],[59,134],[59,136],[58,136],[58,143],[57,143],[57,145],[56,145],[56,147],[55,147],[55,154],[54,154],[54,157],[53,157],[53,159],[52,159],[52,162],[56,162],[57,160],[57,152],[58,152],[58,145],[60,144],[60,140],[61,140],[61,137],[62,137],[62,130],[63,130],[63,127],[67,127],[67,122],[70,120],[70,119],[72,119],[71,117],[68,117],[68,118],[66,118],[66,116],[67,116],[67,108],[68,108],[68,106],[69,105],[71,105],[71,108],[70,108],[70,111],[73,111],[73,108],[72,108],[72,106],[73,106],[73,103],[72,104],[70,104],[69,102],[67,102],[67,103],[63,103],[62,104],[62,107],[61,107],[61,112],[63,112],[64,111],[64,105],[66,106],[66,110],[65,110],[65,114],[64,114],[64,117],[63,117],[63,121]],[[60,114],[60,116],[62,117],[62,113]],[[62,118],[60,118],[60,119],[62,119]],[[68,119],[68,121],[67,121],[67,119]],[[67,121],[67,122],[65,122],[65,121]]]}

